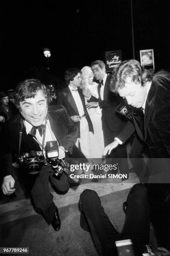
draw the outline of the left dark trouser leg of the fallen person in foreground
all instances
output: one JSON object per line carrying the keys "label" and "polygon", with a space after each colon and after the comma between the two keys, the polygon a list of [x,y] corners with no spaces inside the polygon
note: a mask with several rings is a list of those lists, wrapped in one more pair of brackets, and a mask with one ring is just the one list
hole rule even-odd
{"label": "left dark trouser leg of the fallen person in foreground", "polygon": [[[86,220],[89,225],[99,254],[108,255],[109,248],[109,251],[113,255],[114,241],[117,240],[116,237],[119,233],[115,230],[107,214],[104,212],[97,193],[90,189],[84,190],[80,195],[80,207],[86,217],[84,220]],[[82,224],[83,223],[81,223],[81,227],[83,228]],[[112,241],[109,243],[109,247],[108,241]]]}

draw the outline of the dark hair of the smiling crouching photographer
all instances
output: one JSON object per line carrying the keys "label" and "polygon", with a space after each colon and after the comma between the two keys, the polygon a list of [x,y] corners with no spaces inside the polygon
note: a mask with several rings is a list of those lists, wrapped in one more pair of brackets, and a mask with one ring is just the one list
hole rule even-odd
{"label": "dark hair of the smiling crouching photographer", "polygon": [[41,91],[46,98],[47,105],[50,102],[50,94],[44,84],[38,79],[27,79],[18,84],[15,89],[14,99],[15,105],[20,109],[20,101],[24,101],[28,98],[34,98],[37,92]]}

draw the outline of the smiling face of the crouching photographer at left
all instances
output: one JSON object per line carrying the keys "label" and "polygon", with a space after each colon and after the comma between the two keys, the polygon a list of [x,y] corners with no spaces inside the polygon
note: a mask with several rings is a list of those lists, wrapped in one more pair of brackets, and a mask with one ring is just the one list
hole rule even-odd
{"label": "smiling face of the crouching photographer at left", "polygon": [[34,98],[25,98],[24,101],[20,101],[20,113],[23,118],[33,126],[39,126],[43,123],[43,120],[47,115],[47,102],[42,91],[37,92]]}

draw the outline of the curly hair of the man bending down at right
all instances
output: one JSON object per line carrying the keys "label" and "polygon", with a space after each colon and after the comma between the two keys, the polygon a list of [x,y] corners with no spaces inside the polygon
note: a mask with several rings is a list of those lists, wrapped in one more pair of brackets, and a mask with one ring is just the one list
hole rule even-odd
{"label": "curly hair of the man bending down at right", "polygon": [[152,81],[153,73],[153,69],[144,69],[141,67],[139,61],[135,59],[122,61],[114,71],[110,83],[110,90],[117,92],[118,88],[122,89],[127,77],[131,77],[132,82],[135,84],[140,83],[142,86],[145,86],[147,82]]}

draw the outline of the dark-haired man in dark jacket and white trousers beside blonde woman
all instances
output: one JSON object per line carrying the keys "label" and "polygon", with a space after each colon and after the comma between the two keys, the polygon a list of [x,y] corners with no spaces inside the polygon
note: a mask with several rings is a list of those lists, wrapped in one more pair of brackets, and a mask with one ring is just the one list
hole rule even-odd
{"label": "dark-haired man in dark jacket and white trousers beside blonde woman", "polygon": [[65,80],[68,87],[61,90],[57,96],[57,105],[63,105],[69,116],[79,129],[76,146],[83,154],[90,158],[90,138],[89,131],[94,133],[91,119],[86,110],[84,95],[79,89],[81,85],[81,71],[77,68],[71,68],[65,72]]}

